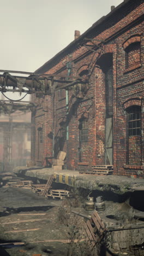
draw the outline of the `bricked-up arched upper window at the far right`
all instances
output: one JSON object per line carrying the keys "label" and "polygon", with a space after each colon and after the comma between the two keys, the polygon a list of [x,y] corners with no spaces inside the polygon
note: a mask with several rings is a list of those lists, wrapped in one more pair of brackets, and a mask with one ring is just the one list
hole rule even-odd
{"label": "bricked-up arched upper window at the far right", "polygon": [[125,68],[140,62],[140,42],[130,44],[125,49]]}

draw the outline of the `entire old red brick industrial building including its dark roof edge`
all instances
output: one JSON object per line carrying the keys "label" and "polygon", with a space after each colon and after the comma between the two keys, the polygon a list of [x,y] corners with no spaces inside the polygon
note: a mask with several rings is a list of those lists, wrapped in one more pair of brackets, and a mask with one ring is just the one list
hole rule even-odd
{"label": "entire old red brick industrial building including its dark roof edge", "polygon": [[[83,78],[86,84],[35,97],[31,157],[67,152],[65,168],[113,165],[114,174],[143,177],[143,1],[126,0],[41,66],[36,73]],[[61,89],[59,89],[60,87]]]}

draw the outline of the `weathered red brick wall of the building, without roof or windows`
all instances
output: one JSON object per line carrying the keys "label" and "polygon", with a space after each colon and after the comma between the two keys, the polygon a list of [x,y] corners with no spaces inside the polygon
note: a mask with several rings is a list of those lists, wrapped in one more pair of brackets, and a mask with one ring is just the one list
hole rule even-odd
{"label": "weathered red brick wall of the building, without roof or windows", "polygon": [[[86,71],[91,75],[89,75],[89,89],[83,99],[76,98],[75,88],[67,92],[65,89],[58,90],[55,95],[45,96],[42,100],[35,97],[34,101],[38,103],[33,118],[35,150],[33,149],[32,154],[35,161],[43,162],[46,156],[51,158],[53,149],[56,157],[58,150],[61,149],[67,152],[65,168],[70,170],[91,170],[93,165],[104,165],[105,119],[109,106],[113,112],[114,173],[143,177],[144,40],[143,24],[140,21],[142,9],[143,4],[140,4],[132,8],[131,12],[113,26],[108,28],[105,23],[107,28],[101,33],[95,31],[94,36],[93,31],[93,38],[103,39],[106,42],[101,44],[102,49],[97,49],[97,53],[87,50],[85,46],[77,46],[73,50],[70,49],[69,54],[64,52],[62,59],[55,62],[55,66],[47,69],[46,73],[63,77],[68,74],[66,63],[71,62],[71,75],[82,75]],[[139,44],[140,48],[131,50],[131,44],[135,43]],[[128,48],[130,54],[127,59]],[[111,95],[107,92],[105,77],[105,70],[110,62],[113,75]],[[107,103],[106,95],[109,99]],[[141,107],[141,136],[128,138],[127,109],[138,104]],[[80,143],[79,124],[82,117],[88,120],[88,141]],[[65,125],[65,136],[62,136],[63,125]],[[39,126],[43,126],[44,139],[38,159]],[[50,134],[54,135],[54,140]],[[135,157],[133,157],[134,153]]]}

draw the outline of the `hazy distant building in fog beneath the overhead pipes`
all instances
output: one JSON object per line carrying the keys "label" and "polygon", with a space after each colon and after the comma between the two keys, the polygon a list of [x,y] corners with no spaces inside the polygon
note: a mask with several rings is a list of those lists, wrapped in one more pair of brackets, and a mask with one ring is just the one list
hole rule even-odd
{"label": "hazy distant building in fog beneath the overhead pipes", "polygon": [[[22,103],[20,104],[22,107]],[[11,113],[10,108],[13,109],[14,106],[14,102],[10,104],[8,101],[1,101],[0,171],[26,166],[31,159],[31,112],[15,110]]]}

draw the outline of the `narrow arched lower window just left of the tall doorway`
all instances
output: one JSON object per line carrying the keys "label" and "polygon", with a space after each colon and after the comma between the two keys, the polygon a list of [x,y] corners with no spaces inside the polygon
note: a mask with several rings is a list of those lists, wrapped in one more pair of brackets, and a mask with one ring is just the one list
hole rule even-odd
{"label": "narrow arched lower window just left of the tall doorway", "polygon": [[88,141],[88,120],[86,118],[80,121],[79,129],[80,129],[80,141],[81,142]]}

